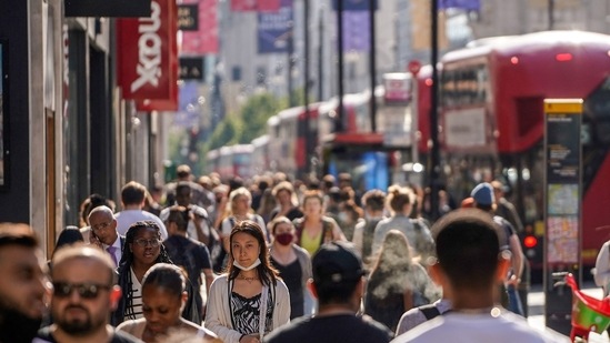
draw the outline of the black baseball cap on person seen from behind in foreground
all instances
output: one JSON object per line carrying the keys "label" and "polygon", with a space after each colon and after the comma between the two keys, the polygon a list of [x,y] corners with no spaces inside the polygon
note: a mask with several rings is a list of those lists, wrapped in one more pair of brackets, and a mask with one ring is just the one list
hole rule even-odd
{"label": "black baseball cap on person seen from behind in foreground", "polygon": [[311,261],[316,284],[343,284],[356,282],[362,275],[362,260],[347,242],[322,244]]}

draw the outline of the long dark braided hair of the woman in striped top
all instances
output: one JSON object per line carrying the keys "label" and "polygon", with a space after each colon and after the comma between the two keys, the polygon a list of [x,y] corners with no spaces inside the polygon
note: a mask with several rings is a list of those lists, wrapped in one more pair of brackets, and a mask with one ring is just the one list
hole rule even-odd
{"label": "long dark braided hair of the woman in striped top", "polygon": [[[132,244],[136,240],[136,235],[146,229],[154,229],[157,231],[157,236],[159,241],[161,240],[161,230],[159,229],[159,225],[153,221],[139,221],[131,224],[131,226],[129,226],[129,229],[127,230],[121,261],[119,262],[119,266],[117,269],[117,272],[119,274],[118,285],[121,286],[123,295],[119,300],[117,310],[114,310],[114,312],[112,313],[111,324],[114,326],[122,323],[126,316],[133,319],[133,281],[131,279],[133,252],[131,251],[131,249],[129,249],[129,244]],[[159,244],[159,249],[160,253],[159,256],[157,256],[157,259],[154,260],[154,263],[173,264],[163,243]]]}

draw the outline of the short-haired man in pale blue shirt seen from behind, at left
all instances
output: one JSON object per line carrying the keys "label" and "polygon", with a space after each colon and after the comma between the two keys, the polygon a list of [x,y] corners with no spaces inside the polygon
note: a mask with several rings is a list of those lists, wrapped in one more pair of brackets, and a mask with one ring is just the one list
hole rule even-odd
{"label": "short-haired man in pale blue shirt seen from behind, at left", "polygon": [[161,240],[167,240],[168,230],[159,216],[147,212],[143,209],[147,188],[136,181],[128,182],[121,190],[122,211],[117,213],[117,230],[121,235],[127,234],[129,226],[140,221],[153,221],[159,225]]}

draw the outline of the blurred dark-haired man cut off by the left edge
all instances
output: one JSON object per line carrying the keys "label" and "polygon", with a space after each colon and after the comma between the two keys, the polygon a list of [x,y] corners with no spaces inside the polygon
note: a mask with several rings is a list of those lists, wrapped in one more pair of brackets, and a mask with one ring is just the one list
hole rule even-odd
{"label": "blurred dark-haired man cut off by the left edge", "polygon": [[0,342],[30,343],[46,313],[49,280],[30,226],[0,223]]}

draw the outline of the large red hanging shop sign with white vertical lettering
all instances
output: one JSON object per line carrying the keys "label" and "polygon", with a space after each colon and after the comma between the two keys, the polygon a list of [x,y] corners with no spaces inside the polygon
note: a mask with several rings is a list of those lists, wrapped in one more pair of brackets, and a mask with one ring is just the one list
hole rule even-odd
{"label": "large red hanging shop sign with white vertical lettering", "polygon": [[174,0],[152,0],[149,18],[117,20],[117,79],[124,99],[147,108],[177,101],[177,18]]}

